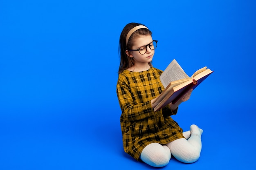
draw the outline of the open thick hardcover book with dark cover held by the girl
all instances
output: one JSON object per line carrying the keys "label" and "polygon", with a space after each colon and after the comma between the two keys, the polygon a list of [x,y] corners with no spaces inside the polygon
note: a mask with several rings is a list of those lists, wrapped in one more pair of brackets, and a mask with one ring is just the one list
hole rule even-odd
{"label": "open thick hardcover book with dark cover held by the girl", "polygon": [[203,67],[189,77],[174,59],[160,76],[160,80],[165,89],[157,96],[152,103],[152,107],[157,111],[169,103],[175,104],[180,97],[191,88],[195,89],[211,73],[213,73],[213,71],[207,67]]}

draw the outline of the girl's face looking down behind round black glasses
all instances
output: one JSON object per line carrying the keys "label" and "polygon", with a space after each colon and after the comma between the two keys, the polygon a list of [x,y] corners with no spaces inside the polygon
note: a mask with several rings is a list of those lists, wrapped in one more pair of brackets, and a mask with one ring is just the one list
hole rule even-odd
{"label": "girl's face looking down behind round black glasses", "polygon": [[[133,40],[133,45],[131,49],[139,49],[141,46],[146,46],[151,42],[153,42],[151,35],[140,35],[139,37]],[[151,50],[149,46],[147,46],[147,51],[145,54],[140,54],[139,51],[128,50],[126,50],[126,54],[134,59],[135,64],[143,64],[152,61],[153,56],[155,54],[155,50]]]}

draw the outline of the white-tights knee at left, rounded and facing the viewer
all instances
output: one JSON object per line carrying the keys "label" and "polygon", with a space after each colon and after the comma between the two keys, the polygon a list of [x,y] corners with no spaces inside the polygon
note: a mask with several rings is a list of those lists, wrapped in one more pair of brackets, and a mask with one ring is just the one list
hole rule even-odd
{"label": "white-tights knee at left, rounded and facing the viewer", "polygon": [[171,151],[166,145],[152,143],[142,150],[140,159],[150,166],[163,167],[169,163]]}

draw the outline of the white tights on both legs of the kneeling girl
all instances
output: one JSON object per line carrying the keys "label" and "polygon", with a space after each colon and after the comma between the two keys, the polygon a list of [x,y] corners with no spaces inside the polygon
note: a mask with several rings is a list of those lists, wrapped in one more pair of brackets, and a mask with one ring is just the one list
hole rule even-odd
{"label": "white tights on both legs of the kneeling girl", "polygon": [[183,132],[186,139],[176,139],[165,145],[149,144],[142,150],[140,159],[154,167],[166,166],[171,159],[171,155],[181,162],[193,163],[200,157],[202,132],[203,130],[198,126],[191,125],[189,131]]}

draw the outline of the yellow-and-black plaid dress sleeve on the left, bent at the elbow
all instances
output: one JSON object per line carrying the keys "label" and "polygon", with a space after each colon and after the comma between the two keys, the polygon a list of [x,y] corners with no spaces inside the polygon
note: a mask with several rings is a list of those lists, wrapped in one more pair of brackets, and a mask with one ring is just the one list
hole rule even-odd
{"label": "yellow-and-black plaid dress sleeve on the left, bent at the elbow", "polygon": [[130,87],[125,80],[119,80],[117,83],[117,97],[124,119],[137,121],[157,114],[152,108],[151,100],[138,104],[134,103]]}

